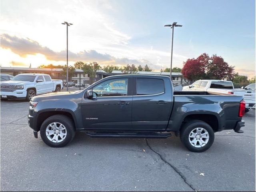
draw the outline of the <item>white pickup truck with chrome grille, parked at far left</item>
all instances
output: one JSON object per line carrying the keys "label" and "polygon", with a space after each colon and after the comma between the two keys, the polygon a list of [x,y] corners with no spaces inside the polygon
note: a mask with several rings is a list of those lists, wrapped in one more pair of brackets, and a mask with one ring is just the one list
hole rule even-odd
{"label": "white pickup truck with chrome grille, parked at far left", "polygon": [[39,94],[58,92],[63,88],[62,80],[52,80],[48,74],[18,74],[0,84],[1,99],[24,98],[27,101]]}

